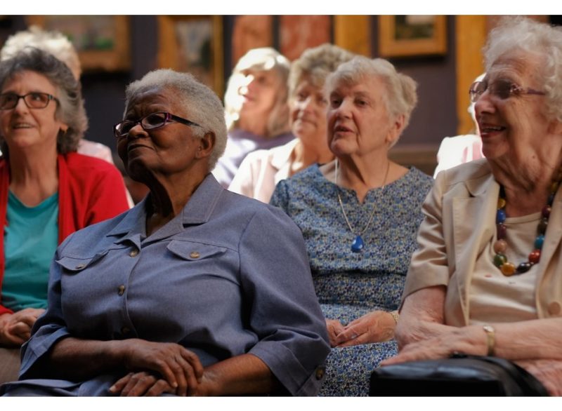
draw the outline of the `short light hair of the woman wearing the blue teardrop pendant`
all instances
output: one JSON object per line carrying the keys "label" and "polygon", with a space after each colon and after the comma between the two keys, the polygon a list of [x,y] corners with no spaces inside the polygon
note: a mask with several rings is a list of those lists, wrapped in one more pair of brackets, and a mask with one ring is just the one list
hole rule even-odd
{"label": "short light hair of the woman wearing the blue teardrop pendant", "polygon": [[[374,60],[358,55],[352,60],[341,64],[326,80],[326,90],[334,88],[339,83],[359,84],[370,77],[378,77],[386,86],[384,102],[388,114],[393,119],[404,116],[404,130],[410,122],[412,111],[417,105],[417,83],[412,77],[396,72],[396,68],[387,60]],[[398,136],[393,144],[398,142]]]}

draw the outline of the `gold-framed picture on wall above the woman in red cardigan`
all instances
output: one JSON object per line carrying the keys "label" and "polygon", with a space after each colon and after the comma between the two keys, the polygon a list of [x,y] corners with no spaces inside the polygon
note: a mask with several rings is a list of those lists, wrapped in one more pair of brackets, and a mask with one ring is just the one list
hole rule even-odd
{"label": "gold-framed picture on wall above the woman in red cardigan", "polygon": [[30,15],[28,25],[57,30],[78,51],[83,72],[131,68],[129,17],[126,15]]}

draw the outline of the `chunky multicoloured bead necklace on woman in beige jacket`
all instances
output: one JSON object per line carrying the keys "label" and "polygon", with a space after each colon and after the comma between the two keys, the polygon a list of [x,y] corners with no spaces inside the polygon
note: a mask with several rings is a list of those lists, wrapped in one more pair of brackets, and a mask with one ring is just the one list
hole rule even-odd
{"label": "chunky multicoloured bead necklace on woman in beige jacket", "polygon": [[[558,173],[558,176],[559,177]],[[517,267],[512,262],[507,261],[507,257],[504,254],[507,250],[507,242],[505,241],[507,235],[507,227],[504,222],[507,218],[505,213],[505,206],[507,204],[505,200],[505,190],[504,187],[499,187],[499,198],[497,199],[497,213],[496,213],[496,229],[497,229],[497,241],[494,243],[494,265],[502,271],[504,276],[512,276],[514,274],[523,274],[530,270],[530,268],[538,264],[540,261],[540,254],[542,250],[542,245],[544,243],[544,235],[547,232],[547,227],[549,224],[550,213],[552,209],[552,202],[554,201],[554,195],[556,190],[558,190],[558,185],[560,184],[560,179],[558,181],[553,181],[550,185],[550,194],[547,200],[547,205],[544,205],[541,211],[541,219],[537,226],[537,238],[535,238],[535,248],[530,252],[528,261],[522,262]]]}

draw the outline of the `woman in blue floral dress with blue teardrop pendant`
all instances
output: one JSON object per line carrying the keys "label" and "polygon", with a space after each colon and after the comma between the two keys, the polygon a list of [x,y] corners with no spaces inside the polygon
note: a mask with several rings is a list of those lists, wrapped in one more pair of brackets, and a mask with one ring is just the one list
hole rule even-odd
{"label": "woman in blue floral dress with blue teardrop pendant", "polygon": [[329,340],[323,395],[367,395],[393,338],[421,203],[432,179],[388,159],[417,102],[414,81],[382,59],[355,57],[327,79],[327,139],[336,156],[273,193],[300,227]]}

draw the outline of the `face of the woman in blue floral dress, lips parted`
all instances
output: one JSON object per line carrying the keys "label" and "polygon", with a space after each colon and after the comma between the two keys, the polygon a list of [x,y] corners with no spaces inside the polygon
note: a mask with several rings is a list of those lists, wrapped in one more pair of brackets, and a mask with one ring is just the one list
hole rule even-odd
{"label": "face of the woman in blue floral dress, lips parted", "polygon": [[340,156],[388,151],[403,123],[391,120],[384,100],[386,86],[378,76],[357,84],[337,83],[329,90],[328,144]]}

